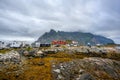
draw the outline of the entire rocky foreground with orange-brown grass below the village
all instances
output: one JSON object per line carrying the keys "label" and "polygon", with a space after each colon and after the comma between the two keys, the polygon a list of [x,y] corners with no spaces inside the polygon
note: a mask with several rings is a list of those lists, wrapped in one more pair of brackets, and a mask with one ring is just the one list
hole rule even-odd
{"label": "entire rocky foreground with orange-brown grass below the village", "polygon": [[120,80],[120,49],[12,50],[0,54],[0,80]]}

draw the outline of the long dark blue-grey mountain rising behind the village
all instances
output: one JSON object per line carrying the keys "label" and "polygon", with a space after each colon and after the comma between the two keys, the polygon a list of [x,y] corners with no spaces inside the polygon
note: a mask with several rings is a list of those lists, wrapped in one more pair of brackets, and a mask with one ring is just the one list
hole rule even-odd
{"label": "long dark blue-grey mountain rising behind the village", "polygon": [[83,32],[55,31],[53,29],[51,29],[50,32],[44,33],[36,42],[51,43],[53,40],[74,40],[78,41],[81,45],[87,45],[87,43],[90,43],[92,45],[108,43],[114,44],[113,40],[100,35]]}

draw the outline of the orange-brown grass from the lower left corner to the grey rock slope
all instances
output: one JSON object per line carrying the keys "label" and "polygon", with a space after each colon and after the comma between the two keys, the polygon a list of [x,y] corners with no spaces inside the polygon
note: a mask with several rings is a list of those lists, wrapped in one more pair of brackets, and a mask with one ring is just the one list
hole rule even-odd
{"label": "orange-brown grass from the lower left corner to the grey rock slope", "polygon": [[[25,62],[24,72],[19,74],[16,77],[14,73],[14,65],[9,66],[9,69],[4,72],[0,72],[0,80],[52,80],[52,67],[51,65],[58,64],[61,62],[66,62],[72,60],[70,57],[66,57],[64,53],[61,54],[51,54],[45,58],[32,58],[27,59]],[[55,57],[57,56],[57,57]],[[63,57],[62,57],[63,56]],[[62,57],[62,58],[61,58]],[[40,63],[44,63],[40,65]],[[11,72],[10,75],[7,75],[7,72]]]}

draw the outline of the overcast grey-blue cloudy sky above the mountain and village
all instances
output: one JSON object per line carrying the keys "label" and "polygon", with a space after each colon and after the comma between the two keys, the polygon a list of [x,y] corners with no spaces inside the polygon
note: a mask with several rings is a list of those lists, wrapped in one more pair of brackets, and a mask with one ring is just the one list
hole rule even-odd
{"label": "overcast grey-blue cloudy sky above the mountain and village", "polygon": [[120,0],[0,0],[0,40],[35,41],[50,29],[120,43]]}

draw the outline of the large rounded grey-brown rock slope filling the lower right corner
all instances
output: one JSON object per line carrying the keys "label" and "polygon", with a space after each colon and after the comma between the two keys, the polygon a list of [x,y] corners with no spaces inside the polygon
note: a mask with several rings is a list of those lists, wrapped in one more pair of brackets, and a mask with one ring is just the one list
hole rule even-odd
{"label": "large rounded grey-brown rock slope filling the lower right corner", "polygon": [[54,80],[119,80],[120,61],[84,58],[53,65]]}

